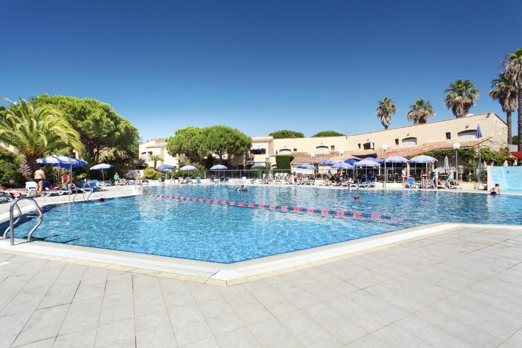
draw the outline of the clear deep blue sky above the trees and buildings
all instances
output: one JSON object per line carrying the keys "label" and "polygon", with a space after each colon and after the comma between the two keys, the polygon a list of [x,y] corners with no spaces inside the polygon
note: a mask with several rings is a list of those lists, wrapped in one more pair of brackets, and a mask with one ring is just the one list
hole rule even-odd
{"label": "clear deep blue sky above the trees and buildings", "polygon": [[[0,97],[40,93],[110,103],[144,139],[189,125],[249,135],[382,129],[375,106],[445,109],[469,78],[488,97],[499,61],[522,46],[522,3],[491,1],[8,1]],[[512,18],[509,18],[509,17]]]}

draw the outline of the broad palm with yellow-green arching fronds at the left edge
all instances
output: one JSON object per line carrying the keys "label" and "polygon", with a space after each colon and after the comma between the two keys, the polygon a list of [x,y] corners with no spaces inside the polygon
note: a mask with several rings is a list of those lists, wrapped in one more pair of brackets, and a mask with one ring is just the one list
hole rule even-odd
{"label": "broad palm with yellow-green arching fronds at the left edge", "polygon": [[38,167],[38,158],[65,148],[84,153],[80,135],[60,112],[49,106],[34,107],[21,98],[17,103],[2,100],[10,106],[0,110],[0,141],[23,155],[20,170],[28,181]]}

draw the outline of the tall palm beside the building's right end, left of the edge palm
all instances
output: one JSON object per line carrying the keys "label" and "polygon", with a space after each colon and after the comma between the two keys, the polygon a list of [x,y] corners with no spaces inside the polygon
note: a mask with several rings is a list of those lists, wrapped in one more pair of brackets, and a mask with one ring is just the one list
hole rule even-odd
{"label": "tall palm beside the building's right end, left of the edge palm", "polygon": [[499,101],[502,105],[502,111],[506,113],[507,123],[507,143],[511,144],[513,134],[511,129],[511,113],[517,110],[518,90],[513,81],[506,76],[506,73],[500,73],[499,78],[491,81],[493,89],[489,92],[491,98]]}

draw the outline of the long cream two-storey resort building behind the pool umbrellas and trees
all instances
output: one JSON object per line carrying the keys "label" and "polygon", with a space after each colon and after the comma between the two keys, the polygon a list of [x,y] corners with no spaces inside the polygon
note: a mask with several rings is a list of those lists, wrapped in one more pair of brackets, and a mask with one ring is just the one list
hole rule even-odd
{"label": "long cream two-storey resort building behind the pool umbrellas and trees", "polygon": [[[476,138],[478,126],[481,128],[482,138]],[[402,157],[431,150],[451,149],[455,142],[459,142],[462,148],[487,146],[493,151],[500,151],[506,147],[506,139],[507,125],[493,112],[340,137],[274,139],[271,136],[255,136],[252,137],[252,148],[245,156],[244,168],[254,163],[275,166],[276,155],[281,154],[293,155],[292,167],[303,163],[314,164],[325,159],[369,156],[383,158],[383,145],[387,146],[387,156]],[[159,154],[163,161],[158,162],[158,165],[177,166],[179,155],[171,157],[165,150],[165,145],[166,142],[162,139],[141,144],[141,164],[153,165],[148,158]]]}

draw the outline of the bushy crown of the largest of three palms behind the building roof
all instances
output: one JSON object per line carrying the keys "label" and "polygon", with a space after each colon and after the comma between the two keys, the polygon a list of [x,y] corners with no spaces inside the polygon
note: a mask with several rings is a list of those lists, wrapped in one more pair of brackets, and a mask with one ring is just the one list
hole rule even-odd
{"label": "bushy crown of the largest of three palms behind the building roof", "polygon": [[479,98],[479,90],[473,86],[471,80],[458,79],[450,83],[449,88],[444,92],[446,93],[444,103],[448,109],[452,109],[455,117],[466,116],[469,108],[474,106]]}

